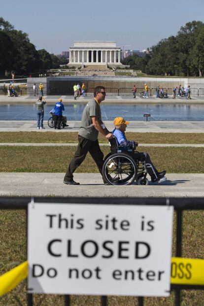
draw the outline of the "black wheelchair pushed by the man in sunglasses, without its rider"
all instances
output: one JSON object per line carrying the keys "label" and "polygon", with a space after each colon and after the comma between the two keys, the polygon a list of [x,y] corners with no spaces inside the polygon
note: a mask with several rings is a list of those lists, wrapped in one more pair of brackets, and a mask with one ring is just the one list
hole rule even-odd
{"label": "black wheelchair pushed by the man in sunglasses, without its rider", "polygon": [[[148,185],[147,168],[151,168],[156,176],[156,181],[161,183],[166,180],[164,176],[159,180],[150,164],[135,160],[133,150],[122,151],[115,137],[109,140],[110,153],[104,158],[102,177],[108,185]],[[124,152],[124,153],[123,153]]]}

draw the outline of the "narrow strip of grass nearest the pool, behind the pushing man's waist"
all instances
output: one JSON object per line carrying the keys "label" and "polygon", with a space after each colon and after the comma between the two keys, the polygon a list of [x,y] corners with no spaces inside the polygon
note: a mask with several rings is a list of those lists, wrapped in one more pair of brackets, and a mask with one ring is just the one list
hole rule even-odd
{"label": "narrow strip of grass nearest the pool, behind the pushing man's waist", "polygon": [[[77,132],[40,133],[40,132],[0,132],[0,142],[77,142]],[[204,143],[204,133],[126,133],[127,139],[139,143]],[[99,135],[99,141],[107,143]]]}

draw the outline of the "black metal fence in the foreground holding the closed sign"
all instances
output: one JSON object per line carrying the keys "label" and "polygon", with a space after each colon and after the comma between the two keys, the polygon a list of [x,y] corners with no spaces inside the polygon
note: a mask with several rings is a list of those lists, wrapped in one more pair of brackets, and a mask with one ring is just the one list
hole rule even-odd
{"label": "black metal fence in the foreground holding the closed sign", "polygon": [[[176,211],[176,257],[182,257],[182,212],[184,210],[204,210],[203,198],[33,198],[35,203],[76,203],[76,204],[128,204],[128,205],[172,205]],[[0,198],[0,209],[28,210],[31,198]],[[181,305],[181,290],[204,289],[199,285],[171,285],[175,291],[175,306]],[[138,297],[138,306],[143,306],[144,298]],[[27,295],[27,305],[33,306],[33,294]],[[65,295],[65,306],[70,306],[70,296]],[[101,297],[101,305],[107,306],[107,297]]]}

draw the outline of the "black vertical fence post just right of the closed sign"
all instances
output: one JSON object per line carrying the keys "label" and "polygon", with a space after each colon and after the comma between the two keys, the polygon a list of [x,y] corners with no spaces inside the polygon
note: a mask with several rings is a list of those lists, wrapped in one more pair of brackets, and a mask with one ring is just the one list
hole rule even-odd
{"label": "black vertical fence post just right of the closed sign", "polygon": [[[182,210],[177,210],[176,217],[176,256],[181,257],[182,253]],[[175,290],[175,306],[180,306],[180,289]]]}

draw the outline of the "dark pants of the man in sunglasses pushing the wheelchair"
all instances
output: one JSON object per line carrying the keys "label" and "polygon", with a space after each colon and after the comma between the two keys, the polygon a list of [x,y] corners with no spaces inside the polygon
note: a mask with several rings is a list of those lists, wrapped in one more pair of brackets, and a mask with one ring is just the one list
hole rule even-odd
{"label": "dark pants of the man in sunglasses pushing the wheelchair", "polygon": [[78,141],[78,147],[74,157],[71,159],[70,164],[68,165],[67,173],[65,174],[65,181],[71,181],[73,179],[73,172],[81,165],[88,152],[91,154],[92,158],[97,164],[97,167],[99,168],[100,173],[102,174],[103,153],[100,149],[98,139],[92,141],[79,135]]}

